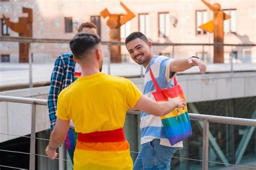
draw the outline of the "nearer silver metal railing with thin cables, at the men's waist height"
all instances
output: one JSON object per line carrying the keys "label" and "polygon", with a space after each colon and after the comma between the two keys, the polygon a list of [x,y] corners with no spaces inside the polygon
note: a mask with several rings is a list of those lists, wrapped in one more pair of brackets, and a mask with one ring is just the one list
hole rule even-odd
{"label": "nearer silver metal railing with thin cables, at the men's waist height", "polygon": [[[24,104],[31,104],[31,137],[30,138],[30,162],[29,162],[29,169],[35,169],[35,156],[36,154],[36,105],[47,105],[47,100],[44,99],[33,99],[33,98],[22,98],[22,97],[10,97],[10,96],[0,96],[0,101],[12,102],[12,103],[24,103]],[[139,111],[127,111],[129,114],[140,114]],[[211,123],[221,123],[221,124],[231,124],[231,125],[243,125],[243,126],[255,126],[256,127],[256,120],[255,119],[244,119],[244,118],[233,118],[233,117],[224,117],[224,116],[216,116],[216,115],[207,115],[207,114],[196,114],[196,113],[188,113],[191,120],[196,121],[203,121],[203,159],[188,159],[188,158],[180,158],[180,159],[188,159],[188,160],[197,160],[202,162],[202,169],[208,169],[208,162],[213,162],[208,160],[208,147],[209,147],[209,124]],[[2,133],[3,134],[3,133]],[[24,137],[24,136],[20,136]],[[44,139],[49,140],[49,139]],[[4,151],[1,150],[0,151]],[[5,151],[6,152],[6,151]],[[8,151],[7,151],[8,152]],[[134,152],[134,151],[131,151]],[[138,153],[138,152],[134,152]],[[45,155],[39,155],[42,157],[46,157]],[[179,158],[179,157],[176,157]],[[63,159],[60,159],[63,160]],[[67,160],[65,160],[67,161]],[[224,164],[222,162],[214,162],[217,164]],[[232,165],[232,164],[226,164]],[[247,167],[247,166],[240,166],[240,165],[232,165],[232,166],[239,166],[239,167]],[[1,165],[0,165],[1,167]],[[4,167],[4,166],[3,166]],[[247,167],[247,168],[254,168],[254,167]],[[19,168],[17,168],[19,169]],[[256,169],[256,168],[255,168]]]}

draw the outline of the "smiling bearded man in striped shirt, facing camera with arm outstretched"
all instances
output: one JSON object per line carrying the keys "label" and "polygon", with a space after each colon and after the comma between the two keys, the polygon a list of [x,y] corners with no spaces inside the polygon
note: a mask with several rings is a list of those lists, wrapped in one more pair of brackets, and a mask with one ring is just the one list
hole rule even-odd
{"label": "smiling bearded man in striped shirt, facing camera with arm outstretched", "polygon": [[[134,62],[146,69],[143,94],[154,99],[155,91],[150,68],[161,89],[174,86],[172,78],[177,72],[198,66],[201,73],[206,71],[205,63],[198,57],[171,59],[165,56],[155,56],[151,51],[151,42],[141,32],[133,32],[125,39],[126,48]],[[164,132],[160,117],[147,112],[140,114],[141,147],[134,163],[137,169],[170,169],[171,158],[177,148],[183,147],[183,142],[171,146]]]}

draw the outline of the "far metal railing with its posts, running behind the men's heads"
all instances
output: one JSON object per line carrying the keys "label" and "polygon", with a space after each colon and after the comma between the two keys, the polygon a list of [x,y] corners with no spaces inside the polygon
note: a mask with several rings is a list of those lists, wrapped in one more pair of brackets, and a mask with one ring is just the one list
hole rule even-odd
{"label": "far metal railing with its posts, running behind the men's heads", "polygon": [[[48,38],[30,38],[30,37],[9,37],[0,36],[0,42],[18,42],[18,43],[64,43],[69,44],[70,39],[48,39]],[[107,45],[107,73],[111,73],[110,65],[110,46],[111,45],[125,45],[124,42],[101,42],[102,45]],[[256,44],[223,44],[223,43],[152,43],[153,46],[172,46],[172,58],[174,57],[174,46],[202,46],[202,54],[205,52],[205,46],[230,46],[231,54],[233,53],[233,46],[250,46],[254,47]],[[29,87],[33,87],[32,83],[32,55],[31,55],[31,45],[29,45]],[[233,72],[233,57],[231,57],[231,69]],[[140,77],[143,77],[143,66],[140,69]]]}

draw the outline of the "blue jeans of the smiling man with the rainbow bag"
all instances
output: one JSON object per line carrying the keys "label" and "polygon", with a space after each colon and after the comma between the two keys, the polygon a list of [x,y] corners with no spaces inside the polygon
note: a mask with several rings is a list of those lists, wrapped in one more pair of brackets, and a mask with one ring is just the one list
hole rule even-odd
{"label": "blue jeans of the smiling man with the rainbow bag", "polygon": [[172,156],[176,150],[176,147],[160,145],[160,139],[146,142],[140,147],[133,170],[169,170],[171,169]]}

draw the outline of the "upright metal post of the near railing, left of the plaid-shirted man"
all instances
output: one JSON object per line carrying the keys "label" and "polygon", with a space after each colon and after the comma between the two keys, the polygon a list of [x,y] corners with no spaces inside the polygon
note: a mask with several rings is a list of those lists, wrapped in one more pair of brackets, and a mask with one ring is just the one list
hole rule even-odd
{"label": "upright metal post of the near railing, left of the plaid-shirted man", "polygon": [[32,103],[29,169],[35,169],[36,154],[36,103]]}

